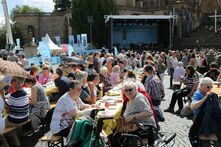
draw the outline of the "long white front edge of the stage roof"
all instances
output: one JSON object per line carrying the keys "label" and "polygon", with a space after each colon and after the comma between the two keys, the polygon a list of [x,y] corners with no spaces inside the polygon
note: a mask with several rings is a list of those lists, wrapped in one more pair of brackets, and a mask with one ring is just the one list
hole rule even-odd
{"label": "long white front edge of the stage roof", "polygon": [[105,23],[109,19],[171,19],[173,15],[106,15]]}

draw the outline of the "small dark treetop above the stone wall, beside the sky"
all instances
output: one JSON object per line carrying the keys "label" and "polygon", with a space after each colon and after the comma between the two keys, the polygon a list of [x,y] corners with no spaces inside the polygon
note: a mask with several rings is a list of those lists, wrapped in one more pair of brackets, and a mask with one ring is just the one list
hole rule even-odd
{"label": "small dark treetop above the stone wall, beside the sky", "polygon": [[54,5],[54,11],[55,12],[64,12],[71,8],[71,0],[53,0]]}

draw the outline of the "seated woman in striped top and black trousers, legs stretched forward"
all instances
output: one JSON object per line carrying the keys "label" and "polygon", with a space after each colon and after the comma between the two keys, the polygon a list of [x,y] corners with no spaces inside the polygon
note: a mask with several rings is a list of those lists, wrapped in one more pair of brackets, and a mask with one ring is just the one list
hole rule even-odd
{"label": "seated woman in striped top and black trousers, legs stretched forward", "polygon": [[173,93],[170,106],[168,109],[164,110],[165,112],[173,113],[176,101],[178,100],[179,109],[175,113],[180,115],[181,110],[183,109],[183,97],[187,96],[188,98],[191,98],[193,93],[196,91],[199,83],[199,77],[196,75],[196,71],[192,66],[188,65],[186,67],[186,73],[184,78],[182,78],[182,82],[186,85],[186,87]]}

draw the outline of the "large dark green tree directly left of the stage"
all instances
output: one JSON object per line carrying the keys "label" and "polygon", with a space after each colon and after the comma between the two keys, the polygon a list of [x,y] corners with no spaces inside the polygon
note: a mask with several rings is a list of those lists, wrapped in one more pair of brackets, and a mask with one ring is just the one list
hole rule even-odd
{"label": "large dark green tree directly left of the stage", "polygon": [[105,44],[104,15],[116,14],[113,0],[72,0],[71,26],[74,34],[87,33],[90,36],[88,16],[92,16],[93,45],[101,47]]}

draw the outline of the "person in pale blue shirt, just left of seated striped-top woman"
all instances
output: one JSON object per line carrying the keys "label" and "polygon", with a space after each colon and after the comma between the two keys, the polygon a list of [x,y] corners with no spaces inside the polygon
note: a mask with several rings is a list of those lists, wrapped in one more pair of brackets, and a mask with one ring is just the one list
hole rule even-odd
{"label": "person in pale blue shirt, just left of seated striped-top woman", "polygon": [[184,76],[185,69],[183,67],[183,62],[178,62],[177,67],[175,68],[175,71],[173,73],[173,87],[175,89],[180,89],[181,86],[181,76]]}

